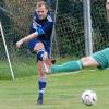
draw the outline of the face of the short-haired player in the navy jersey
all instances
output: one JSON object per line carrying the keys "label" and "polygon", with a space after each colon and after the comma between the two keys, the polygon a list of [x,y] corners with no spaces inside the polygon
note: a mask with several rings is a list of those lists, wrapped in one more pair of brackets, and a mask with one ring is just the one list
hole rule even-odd
{"label": "face of the short-haired player in the navy jersey", "polygon": [[45,5],[37,8],[37,14],[40,20],[45,19],[47,16],[48,9]]}

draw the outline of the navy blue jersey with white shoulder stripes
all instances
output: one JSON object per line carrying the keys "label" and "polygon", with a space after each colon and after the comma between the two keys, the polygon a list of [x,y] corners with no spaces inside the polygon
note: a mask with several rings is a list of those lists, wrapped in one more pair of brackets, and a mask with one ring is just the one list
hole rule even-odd
{"label": "navy blue jersey with white shoulder stripes", "polygon": [[29,48],[33,49],[33,47],[31,46],[32,45],[35,46],[36,39],[44,43],[44,46],[50,47],[50,38],[51,38],[51,33],[53,27],[52,14],[49,12],[46,19],[39,20],[37,11],[35,11],[35,15],[31,24],[29,34],[35,33],[37,31],[37,26],[43,29],[43,33],[39,34],[37,38],[34,38],[28,43]]}

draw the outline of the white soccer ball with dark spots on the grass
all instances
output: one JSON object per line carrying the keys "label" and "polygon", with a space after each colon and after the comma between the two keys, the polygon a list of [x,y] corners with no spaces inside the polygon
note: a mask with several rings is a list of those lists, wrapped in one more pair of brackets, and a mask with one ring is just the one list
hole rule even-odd
{"label": "white soccer ball with dark spots on the grass", "polygon": [[92,106],[97,101],[97,95],[93,90],[85,90],[82,93],[81,99],[83,104]]}

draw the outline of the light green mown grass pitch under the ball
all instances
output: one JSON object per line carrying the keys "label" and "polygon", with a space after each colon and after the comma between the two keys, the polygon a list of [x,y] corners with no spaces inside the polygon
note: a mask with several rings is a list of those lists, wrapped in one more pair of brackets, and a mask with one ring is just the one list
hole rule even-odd
{"label": "light green mown grass pitch under the ball", "polygon": [[[97,93],[94,106],[81,102],[85,89]],[[43,106],[36,104],[37,76],[0,80],[0,109],[109,109],[109,70],[49,75]]]}

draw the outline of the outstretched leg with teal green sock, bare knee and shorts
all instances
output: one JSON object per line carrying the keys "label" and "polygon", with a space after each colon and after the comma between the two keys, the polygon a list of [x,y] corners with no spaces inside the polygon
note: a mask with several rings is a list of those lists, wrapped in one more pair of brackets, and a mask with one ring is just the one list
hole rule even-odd
{"label": "outstretched leg with teal green sock, bare knee and shorts", "polygon": [[97,51],[80,60],[69,61],[61,65],[52,65],[51,73],[80,71],[85,66],[97,66],[100,70],[109,68],[109,48]]}

